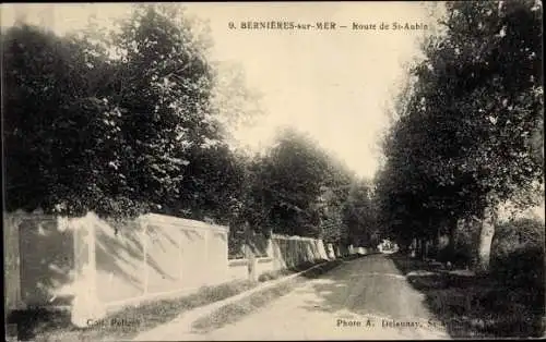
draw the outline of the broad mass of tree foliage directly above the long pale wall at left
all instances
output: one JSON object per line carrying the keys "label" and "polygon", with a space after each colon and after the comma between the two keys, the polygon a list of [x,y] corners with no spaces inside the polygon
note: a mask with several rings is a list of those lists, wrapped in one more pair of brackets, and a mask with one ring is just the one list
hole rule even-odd
{"label": "broad mass of tree foliage directly above the long pale wall at left", "polygon": [[2,34],[8,209],[187,212],[224,185],[209,180],[232,159],[210,41],[180,11],[138,5],[110,32]]}

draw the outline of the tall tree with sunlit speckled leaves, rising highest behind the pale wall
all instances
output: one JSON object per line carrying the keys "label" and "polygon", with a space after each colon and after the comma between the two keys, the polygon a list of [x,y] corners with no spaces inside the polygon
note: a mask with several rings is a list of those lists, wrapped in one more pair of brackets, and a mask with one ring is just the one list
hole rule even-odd
{"label": "tall tree with sunlit speckled leaves, rising highest behind the pale wall", "polygon": [[[123,109],[121,132],[132,196],[152,206],[179,196],[192,149],[214,143],[209,118],[212,73],[205,46],[178,7],[139,5],[112,35],[117,77],[111,102]],[[154,208],[157,209],[157,208]]]}

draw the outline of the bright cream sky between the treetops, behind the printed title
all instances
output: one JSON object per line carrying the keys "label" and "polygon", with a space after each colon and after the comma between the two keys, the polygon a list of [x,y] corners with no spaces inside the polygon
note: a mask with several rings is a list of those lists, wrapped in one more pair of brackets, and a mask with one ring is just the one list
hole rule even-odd
{"label": "bright cream sky between the treetops, behind the printed title", "polygon": [[[3,4],[2,26],[19,13],[58,33],[83,27],[87,17],[121,16],[130,4]],[[404,63],[416,53],[423,30],[353,30],[353,23],[419,23],[434,27],[418,2],[188,3],[210,21],[213,59],[241,64],[251,89],[263,94],[266,114],[237,137],[266,147],[280,125],[309,132],[359,175],[372,176],[378,141],[388,126],[385,109],[404,80]],[[336,22],[336,30],[244,30],[228,23]]]}

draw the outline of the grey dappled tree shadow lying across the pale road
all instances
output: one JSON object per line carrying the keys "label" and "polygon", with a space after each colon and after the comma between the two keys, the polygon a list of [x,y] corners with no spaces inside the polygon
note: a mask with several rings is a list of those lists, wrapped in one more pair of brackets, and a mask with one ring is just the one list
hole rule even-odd
{"label": "grey dappled tree shadow lying across the pale road", "polygon": [[[369,255],[323,274],[309,286],[296,290],[305,308],[335,318],[376,316],[395,320],[428,320],[423,296],[406,283],[384,255]],[[312,293],[310,293],[312,292]]]}

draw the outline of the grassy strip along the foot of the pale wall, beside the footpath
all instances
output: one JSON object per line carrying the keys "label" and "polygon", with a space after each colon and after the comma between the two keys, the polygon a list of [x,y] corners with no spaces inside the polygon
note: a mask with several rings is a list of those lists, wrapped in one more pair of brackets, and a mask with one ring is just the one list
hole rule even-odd
{"label": "grassy strip along the foot of the pale wall, beside the footpath", "polygon": [[233,281],[216,286],[204,286],[183,297],[124,307],[99,322],[92,322],[85,329],[71,325],[69,312],[46,309],[12,313],[8,322],[16,325],[17,340],[21,341],[129,340],[142,331],[173,320],[183,312],[225,300],[257,285],[258,282]]}

